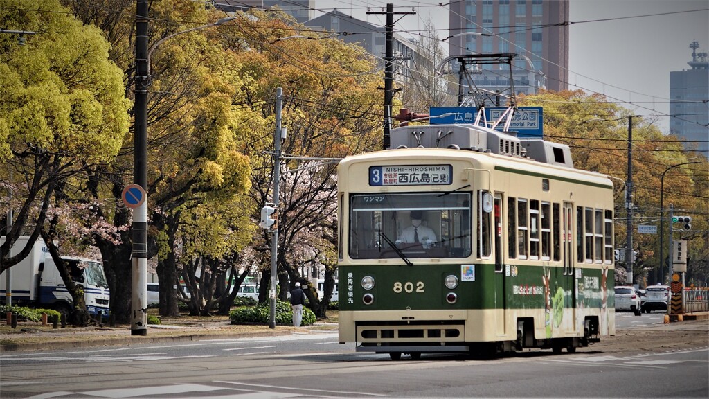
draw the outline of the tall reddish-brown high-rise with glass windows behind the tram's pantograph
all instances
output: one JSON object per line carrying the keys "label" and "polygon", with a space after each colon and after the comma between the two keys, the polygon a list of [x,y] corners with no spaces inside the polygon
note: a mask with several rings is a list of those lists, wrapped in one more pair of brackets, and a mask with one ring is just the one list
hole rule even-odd
{"label": "tall reddish-brown high-rise with glass windows behind the tram's pantograph", "polygon": [[[518,54],[515,94],[567,89],[569,0],[464,0],[450,4],[450,55]],[[536,73],[535,73],[536,72]],[[541,73],[540,73],[541,72]],[[509,68],[481,65],[477,88],[504,92]],[[474,90],[475,88],[471,88]]]}

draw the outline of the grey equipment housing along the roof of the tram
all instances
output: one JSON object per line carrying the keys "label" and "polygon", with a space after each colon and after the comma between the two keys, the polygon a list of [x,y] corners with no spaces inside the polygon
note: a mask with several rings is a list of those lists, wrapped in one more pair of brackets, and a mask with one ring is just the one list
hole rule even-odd
{"label": "grey equipment housing along the roof of the tram", "polygon": [[540,138],[519,138],[474,124],[403,126],[392,129],[392,148],[451,148],[530,158],[549,165],[574,168],[571,150],[565,144]]}

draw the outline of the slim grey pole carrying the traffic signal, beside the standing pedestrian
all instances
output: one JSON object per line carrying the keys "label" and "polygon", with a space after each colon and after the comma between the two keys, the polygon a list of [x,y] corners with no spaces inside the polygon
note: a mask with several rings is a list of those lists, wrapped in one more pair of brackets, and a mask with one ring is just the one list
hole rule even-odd
{"label": "slim grey pole carrying the traffic signal, beside the standing pedestrian", "polygon": [[[281,139],[283,129],[281,128],[281,111],[283,109],[283,88],[276,88],[276,129],[273,133],[273,203],[276,209],[280,204],[280,182],[281,182]],[[277,213],[278,215],[278,213]],[[276,328],[276,293],[278,286],[278,224],[274,226],[271,239],[271,290],[269,298],[271,300],[269,328]]]}

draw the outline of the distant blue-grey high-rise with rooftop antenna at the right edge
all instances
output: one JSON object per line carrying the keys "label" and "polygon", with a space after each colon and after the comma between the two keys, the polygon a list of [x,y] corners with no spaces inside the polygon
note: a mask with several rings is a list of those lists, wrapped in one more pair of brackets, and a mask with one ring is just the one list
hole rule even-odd
{"label": "distant blue-grey high-rise with rooftop antenna at the right edge", "polygon": [[709,158],[709,58],[697,53],[699,43],[693,41],[691,70],[669,72],[669,132],[684,138],[688,150],[699,151]]}

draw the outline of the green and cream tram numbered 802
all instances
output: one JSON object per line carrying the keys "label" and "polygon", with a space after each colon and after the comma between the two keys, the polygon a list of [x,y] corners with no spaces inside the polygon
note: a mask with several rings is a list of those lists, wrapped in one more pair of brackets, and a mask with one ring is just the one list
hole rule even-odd
{"label": "green and cream tram numbered 802", "polygon": [[340,343],[415,359],[615,334],[608,177],[568,146],[473,125],[391,143],[338,168]]}

